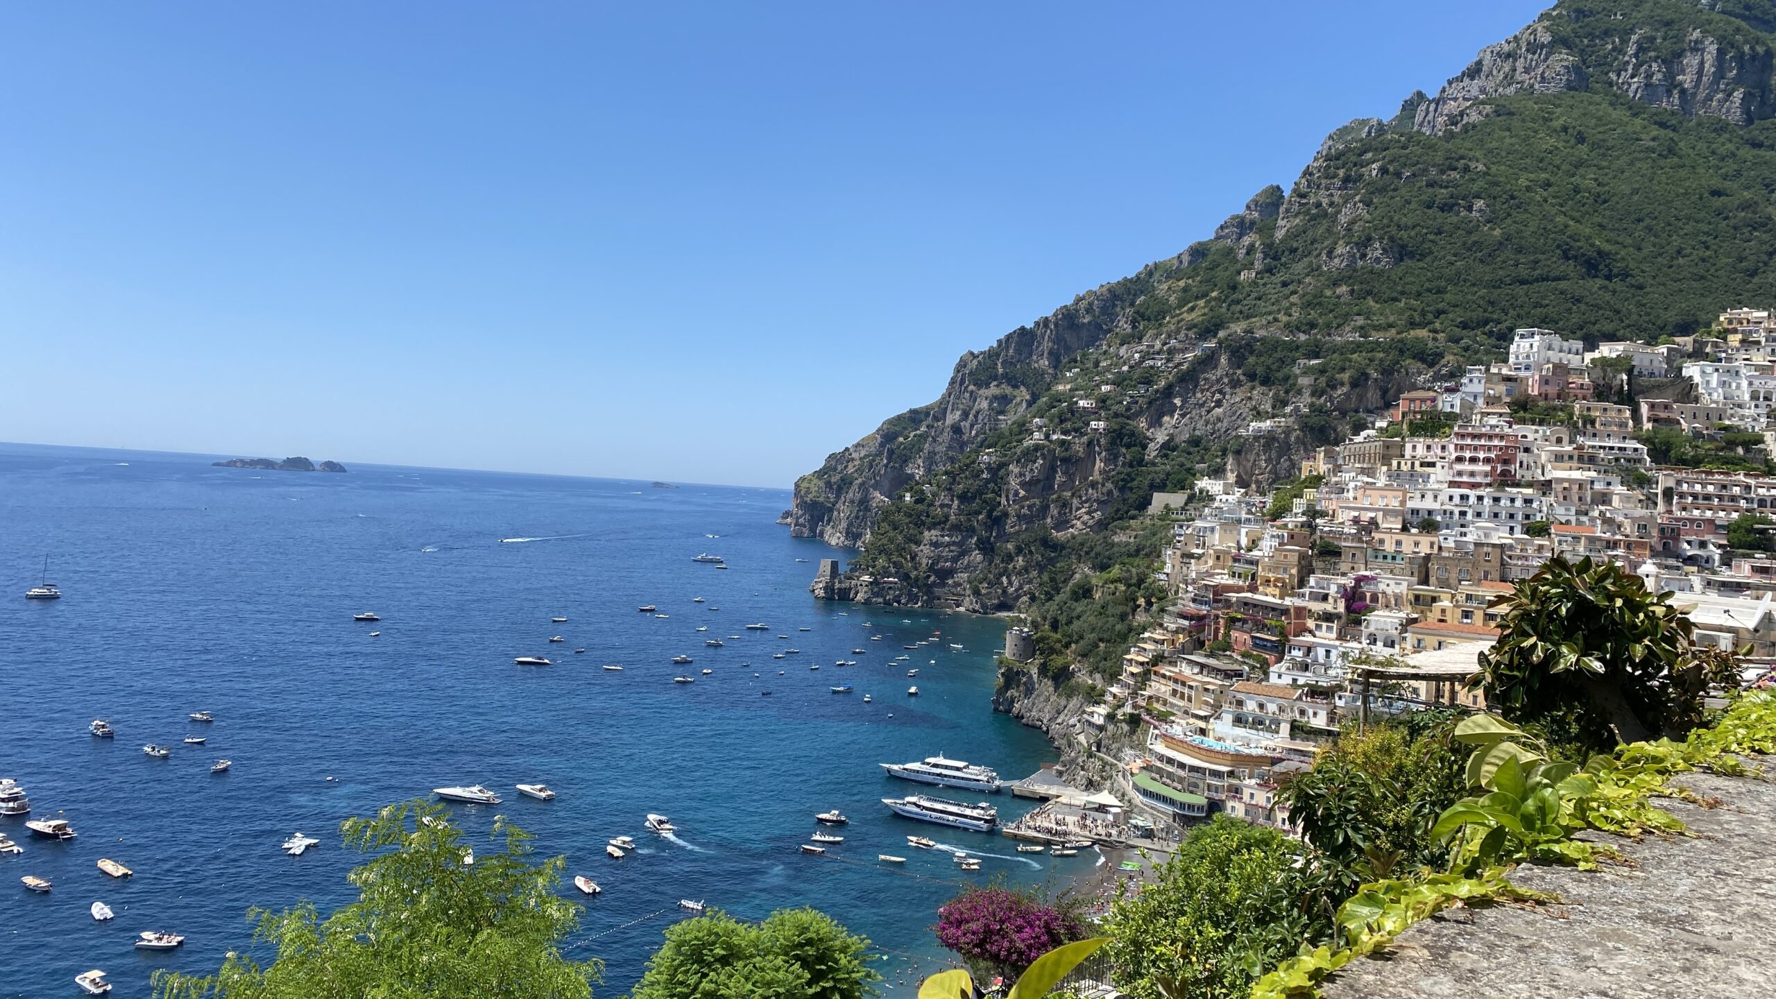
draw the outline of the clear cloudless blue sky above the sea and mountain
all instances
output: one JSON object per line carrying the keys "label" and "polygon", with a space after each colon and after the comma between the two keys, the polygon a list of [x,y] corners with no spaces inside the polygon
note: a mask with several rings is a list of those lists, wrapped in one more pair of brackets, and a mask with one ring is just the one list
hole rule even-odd
{"label": "clear cloudless blue sky above the sea and mountain", "polygon": [[11,4],[0,439],[789,485],[1540,9]]}

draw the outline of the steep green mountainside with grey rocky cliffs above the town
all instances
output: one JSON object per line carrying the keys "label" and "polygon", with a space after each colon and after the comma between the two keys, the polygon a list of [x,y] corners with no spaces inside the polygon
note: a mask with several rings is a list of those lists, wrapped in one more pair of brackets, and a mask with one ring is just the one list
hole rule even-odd
{"label": "steep green mountainside with grey rocky cliffs above the town", "polygon": [[1117,565],[1142,539],[1112,526],[1154,491],[1227,464],[1288,478],[1515,327],[1655,341],[1776,300],[1772,30],[1765,0],[1561,2],[1435,96],[1334,132],[1211,240],[966,354],[783,519],[897,579],[863,599],[1138,606]]}

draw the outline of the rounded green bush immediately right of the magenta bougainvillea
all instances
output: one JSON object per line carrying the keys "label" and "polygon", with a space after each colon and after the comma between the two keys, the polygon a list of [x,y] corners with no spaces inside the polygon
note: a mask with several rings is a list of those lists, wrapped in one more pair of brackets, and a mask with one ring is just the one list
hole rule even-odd
{"label": "rounded green bush immediately right of the magenta bougainvillea", "polygon": [[1325,939],[1337,899],[1307,891],[1316,873],[1296,867],[1296,850],[1227,816],[1193,828],[1156,882],[1110,910],[1117,987],[1133,999],[1243,997],[1263,969]]}

